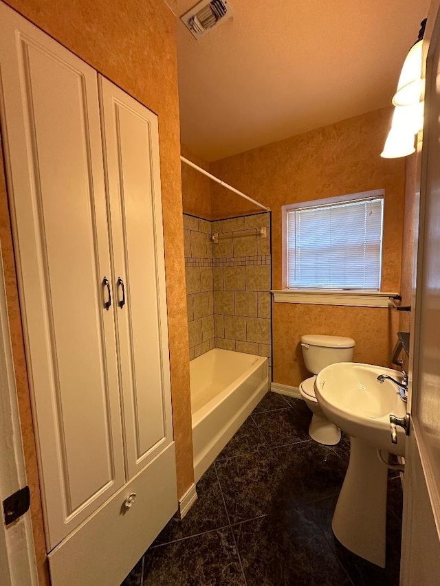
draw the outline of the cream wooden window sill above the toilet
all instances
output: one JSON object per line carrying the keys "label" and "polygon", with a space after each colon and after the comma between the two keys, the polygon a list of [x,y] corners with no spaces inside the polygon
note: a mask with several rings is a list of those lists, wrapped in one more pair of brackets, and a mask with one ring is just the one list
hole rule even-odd
{"label": "cream wooden window sill above the toilet", "polygon": [[275,303],[346,305],[354,307],[394,307],[390,297],[398,293],[383,291],[325,291],[318,289],[281,289],[271,291]]}

